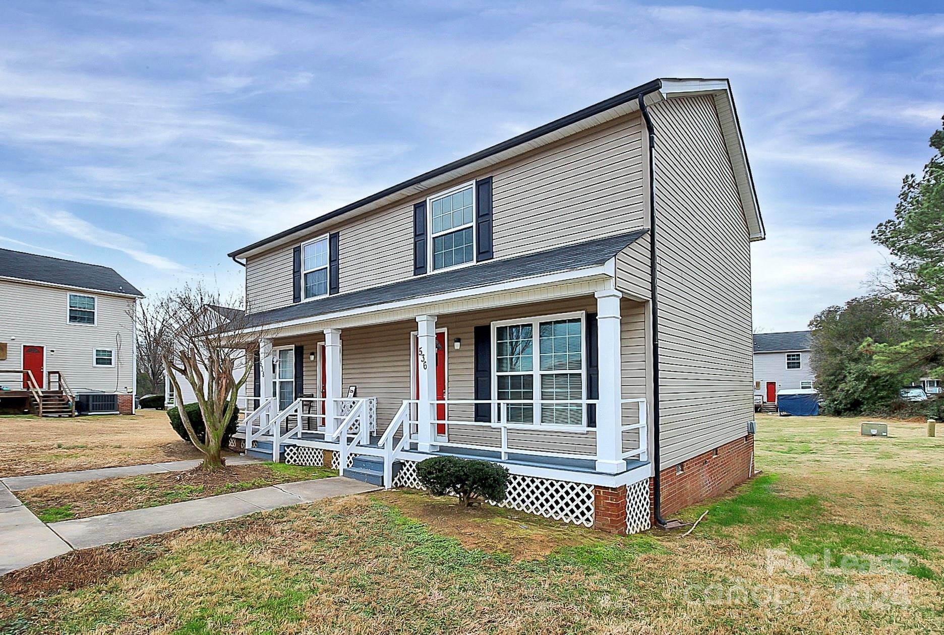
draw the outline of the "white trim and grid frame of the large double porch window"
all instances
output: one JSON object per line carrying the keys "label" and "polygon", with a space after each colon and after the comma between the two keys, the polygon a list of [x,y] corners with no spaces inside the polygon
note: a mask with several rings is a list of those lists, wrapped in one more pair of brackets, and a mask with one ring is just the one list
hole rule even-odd
{"label": "white trim and grid frame of the large double porch window", "polygon": [[[541,370],[541,337],[540,337],[540,328],[542,322],[552,322],[554,320],[571,320],[573,318],[580,318],[581,320],[581,399],[586,399],[587,392],[587,352],[586,352],[586,311],[571,311],[568,313],[552,313],[550,315],[538,315],[535,317],[522,317],[513,320],[499,320],[492,323],[492,342],[491,342],[491,356],[489,365],[491,366],[492,374],[492,394],[495,395],[495,399],[498,398],[498,376],[506,375],[527,375],[528,372],[519,372],[519,371],[506,371],[499,373],[497,370],[497,329],[499,326],[514,326],[514,325],[524,325],[531,324],[531,376],[535,378],[533,382],[533,394],[532,397],[532,408],[534,409],[533,414],[533,423],[531,424],[520,424],[520,426],[537,426],[537,427],[554,427],[564,430],[582,430],[586,428],[586,409],[582,408],[582,423],[579,426],[571,426],[566,424],[545,424],[541,421],[541,376],[542,375],[573,375],[575,371],[542,371]],[[548,402],[549,403],[549,402]],[[497,421],[497,412],[493,412],[493,417]]]}

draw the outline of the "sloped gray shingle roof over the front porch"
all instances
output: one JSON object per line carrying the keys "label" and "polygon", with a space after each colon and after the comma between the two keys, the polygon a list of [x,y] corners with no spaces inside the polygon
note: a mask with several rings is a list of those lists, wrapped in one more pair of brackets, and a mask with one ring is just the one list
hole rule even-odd
{"label": "sloped gray shingle roof over the front porch", "polygon": [[299,302],[288,307],[261,311],[248,316],[247,326],[277,324],[339,310],[361,309],[435,293],[474,289],[506,280],[593,267],[613,258],[647,231],[649,229],[638,229],[627,234],[554,247],[525,256],[486,260],[471,267],[411,277],[382,287],[329,295],[310,302]]}

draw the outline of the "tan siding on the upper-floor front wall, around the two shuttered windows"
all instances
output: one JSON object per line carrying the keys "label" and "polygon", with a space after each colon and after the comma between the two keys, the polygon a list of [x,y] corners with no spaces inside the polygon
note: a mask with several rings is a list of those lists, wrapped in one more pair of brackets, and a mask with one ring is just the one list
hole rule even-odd
{"label": "tan siding on the upper-floor front wall, around the two shuttered windows", "polygon": [[[631,231],[643,222],[641,126],[628,115],[427,192],[493,177],[496,258]],[[246,262],[251,311],[292,303],[295,244],[339,231],[339,287],[351,292],[413,276],[413,204],[419,197],[326,224]]]}

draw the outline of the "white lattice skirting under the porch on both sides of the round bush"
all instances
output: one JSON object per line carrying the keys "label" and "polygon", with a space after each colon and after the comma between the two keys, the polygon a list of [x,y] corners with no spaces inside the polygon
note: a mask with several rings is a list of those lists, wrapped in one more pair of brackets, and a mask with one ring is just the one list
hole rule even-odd
{"label": "white lattice skirting under the porch on both sides of the round bush", "polygon": [[[416,461],[400,462],[394,487],[423,489],[416,477]],[[508,479],[508,497],[499,505],[573,525],[593,526],[593,501],[593,485],[513,474]]]}

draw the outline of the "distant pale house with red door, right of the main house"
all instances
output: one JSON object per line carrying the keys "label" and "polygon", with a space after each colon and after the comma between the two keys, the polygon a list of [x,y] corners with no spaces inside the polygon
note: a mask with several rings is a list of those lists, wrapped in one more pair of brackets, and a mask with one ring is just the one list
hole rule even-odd
{"label": "distant pale house with red door, right of the main house", "polygon": [[778,391],[813,388],[810,332],[754,334],[754,394],[765,403],[776,403]]}

